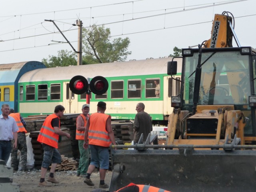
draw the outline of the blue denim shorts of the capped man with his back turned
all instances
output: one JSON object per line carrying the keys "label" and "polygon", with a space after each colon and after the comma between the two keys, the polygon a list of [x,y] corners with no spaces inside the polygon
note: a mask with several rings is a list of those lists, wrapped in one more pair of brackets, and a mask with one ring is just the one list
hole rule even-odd
{"label": "blue denim shorts of the capped man with his back turned", "polygon": [[97,145],[90,145],[91,162],[90,165],[99,167],[100,169],[108,169],[109,166],[109,152],[108,147]]}

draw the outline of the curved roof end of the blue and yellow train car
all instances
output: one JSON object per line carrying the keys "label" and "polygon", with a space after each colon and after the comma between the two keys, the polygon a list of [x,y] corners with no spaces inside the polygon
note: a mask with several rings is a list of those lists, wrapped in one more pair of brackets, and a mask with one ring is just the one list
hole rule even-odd
{"label": "curved roof end of the blue and yellow train car", "polygon": [[0,64],[0,84],[14,84],[22,74],[37,68],[46,68],[46,66],[42,62],[38,61]]}

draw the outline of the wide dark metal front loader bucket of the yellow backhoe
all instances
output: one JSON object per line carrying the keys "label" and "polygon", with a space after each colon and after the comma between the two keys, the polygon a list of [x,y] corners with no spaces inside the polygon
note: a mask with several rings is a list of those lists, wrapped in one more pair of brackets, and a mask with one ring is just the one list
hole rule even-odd
{"label": "wide dark metal front loader bucket of the yellow backhoe", "polygon": [[127,146],[114,145],[109,190],[114,192],[130,183],[171,192],[256,189],[256,150],[253,146],[250,150],[239,150],[245,146],[233,144],[214,146],[218,147],[215,150],[204,150],[204,147],[209,146],[150,145],[146,142],[128,146],[134,150],[122,150]]}

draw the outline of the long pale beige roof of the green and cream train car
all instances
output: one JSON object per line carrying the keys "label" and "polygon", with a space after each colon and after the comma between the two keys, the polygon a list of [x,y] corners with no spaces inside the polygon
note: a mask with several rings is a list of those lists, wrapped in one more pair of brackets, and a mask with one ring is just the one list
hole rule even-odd
{"label": "long pale beige roof of the green and cream train car", "polygon": [[[158,58],[146,60],[133,60],[125,62],[112,62],[101,64],[88,64],[80,66],[66,66],[56,68],[36,69],[24,74],[19,82],[49,81],[49,80],[70,80],[76,75],[86,78],[95,76],[115,77],[115,76],[135,76],[147,74],[166,74],[167,62],[172,58]],[[178,63],[181,58],[175,58]],[[178,65],[181,72],[181,64]]]}

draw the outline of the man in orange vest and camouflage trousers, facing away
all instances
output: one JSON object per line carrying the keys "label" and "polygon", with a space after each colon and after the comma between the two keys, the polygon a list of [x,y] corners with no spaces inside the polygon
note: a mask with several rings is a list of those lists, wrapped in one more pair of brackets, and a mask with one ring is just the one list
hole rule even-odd
{"label": "man in orange vest and camouflage trousers, facing away", "polygon": [[9,116],[13,117],[19,128],[17,148],[14,148],[11,153],[11,163],[14,171],[18,170],[19,160],[17,158],[18,150],[21,154],[21,171],[27,170],[27,141],[26,141],[26,121],[22,118],[20,113],[15,113],[13,108],[10,108]]}

